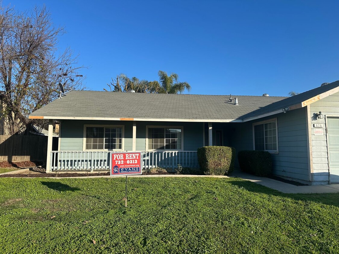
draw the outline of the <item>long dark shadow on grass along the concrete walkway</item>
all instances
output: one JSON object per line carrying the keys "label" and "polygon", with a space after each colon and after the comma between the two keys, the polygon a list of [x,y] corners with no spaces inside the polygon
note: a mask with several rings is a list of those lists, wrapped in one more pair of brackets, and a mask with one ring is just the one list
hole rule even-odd
{"label": "long dark shadow on grass along the concrete walkway", "polygon": [[230,184],[236,185],[239,188],[243,188],[250,192],[255,193],[264,193],[267,195],[274,195],[279,197],[286,197],[295,200],[302,201],[312,201],[317,203],[322,203],[324,205],[332,205],[339,207],[339,193],[299,193],[299,194],[290,194],[290,193],[282,193],[277,190],[273,190],[271,188],[252,183],[249,181],[229,181]]}

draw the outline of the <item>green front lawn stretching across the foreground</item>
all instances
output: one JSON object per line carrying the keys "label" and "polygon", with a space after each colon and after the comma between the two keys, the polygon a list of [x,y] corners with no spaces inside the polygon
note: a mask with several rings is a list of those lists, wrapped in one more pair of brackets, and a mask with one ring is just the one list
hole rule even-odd
{"label": "green front lawn stretching across the foreground", "polygon": [[0,178],[1,253],[339,253],[339,194],[239,178]]}

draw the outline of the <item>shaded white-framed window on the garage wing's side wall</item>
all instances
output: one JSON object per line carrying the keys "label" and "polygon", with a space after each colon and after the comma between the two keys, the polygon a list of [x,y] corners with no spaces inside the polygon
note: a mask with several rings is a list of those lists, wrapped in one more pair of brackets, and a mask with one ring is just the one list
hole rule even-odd
{"label": "shaded white-framed window on the garage wing's side wall", "polygon": [[278,153],[277,119],[253,124],[253,149]]}

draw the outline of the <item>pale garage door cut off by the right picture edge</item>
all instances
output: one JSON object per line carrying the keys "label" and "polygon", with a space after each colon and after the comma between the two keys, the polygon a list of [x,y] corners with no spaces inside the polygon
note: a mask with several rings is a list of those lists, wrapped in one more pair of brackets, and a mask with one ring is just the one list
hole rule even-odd
{"label": "pale garage door cut off by the right picture edge", "polygon": [[339,183],[339,118],[327,117],[326,125],[331,183]]}

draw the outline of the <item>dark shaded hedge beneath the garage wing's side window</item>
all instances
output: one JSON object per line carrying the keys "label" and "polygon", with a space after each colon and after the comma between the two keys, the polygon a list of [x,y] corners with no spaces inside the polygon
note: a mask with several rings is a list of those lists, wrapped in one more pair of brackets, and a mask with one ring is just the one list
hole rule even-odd
{"label": "dark shaded hedge beneath the garage wing's side window", "polygon": [[272,157],[267,151],[239,151],[240,169],[257,176],[268,176],[272,173]]}

